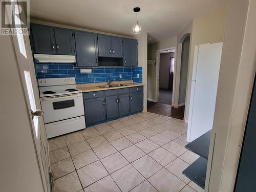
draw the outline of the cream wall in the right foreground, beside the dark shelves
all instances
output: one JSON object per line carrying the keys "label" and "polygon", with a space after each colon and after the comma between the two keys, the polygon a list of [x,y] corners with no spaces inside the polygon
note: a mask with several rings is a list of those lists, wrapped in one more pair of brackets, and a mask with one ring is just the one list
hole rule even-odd
{"label": "cream wall in the right foreground, beside the dark shelves", "polygon": [[228,2],[212,129],[216,139],[211,173],[207,170],[209,191],[233,191],[255,75],[255,8],[255,1]]}

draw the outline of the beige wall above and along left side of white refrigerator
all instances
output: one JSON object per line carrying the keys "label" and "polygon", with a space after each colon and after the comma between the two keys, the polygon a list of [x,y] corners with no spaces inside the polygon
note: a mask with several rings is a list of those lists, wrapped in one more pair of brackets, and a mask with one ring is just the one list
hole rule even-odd
{"label": "beige wall above and along left side of white refrigerator", "polygon": [[190,59],[188,66],[188,81],[185,103],[185,121],[188,120],[190,90],[192,80],[192,70],[194,62],[194,50],[196,45],[214,43],[223,41],[226,19],[226,8],[212,12],[208,15],[195,18],[193,20],[193,29],[190,36]]}

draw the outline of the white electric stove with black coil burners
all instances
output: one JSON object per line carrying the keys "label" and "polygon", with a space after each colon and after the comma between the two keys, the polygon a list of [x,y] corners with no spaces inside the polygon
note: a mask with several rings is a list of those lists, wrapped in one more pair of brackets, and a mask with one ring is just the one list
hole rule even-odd
{"label": "white electric stove with black coil burners", "polygon": [[47,138],[84,129],[82,91],[74,77],[38,79]]}

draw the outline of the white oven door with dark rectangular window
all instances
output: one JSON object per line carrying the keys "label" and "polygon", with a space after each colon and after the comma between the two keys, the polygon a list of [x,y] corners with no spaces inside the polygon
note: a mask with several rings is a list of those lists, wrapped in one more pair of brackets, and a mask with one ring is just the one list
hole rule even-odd
{"label": "white oven door with dark rectangular window", "polygon": [[84,115],[82,93],[40,98],[45,123]]}

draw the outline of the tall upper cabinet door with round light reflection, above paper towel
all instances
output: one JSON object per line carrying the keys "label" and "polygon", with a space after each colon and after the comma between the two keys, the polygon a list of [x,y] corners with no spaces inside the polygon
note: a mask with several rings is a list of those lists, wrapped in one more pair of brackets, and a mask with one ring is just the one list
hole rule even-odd
{"label": "tall upper cabinet door with round light reflection, above paper towel", "polygon": [[75,31],[76,61],[78,67],[97,67],[97,35]]}

